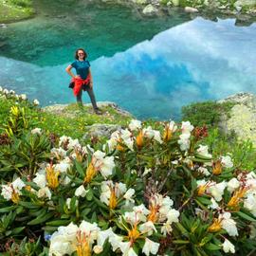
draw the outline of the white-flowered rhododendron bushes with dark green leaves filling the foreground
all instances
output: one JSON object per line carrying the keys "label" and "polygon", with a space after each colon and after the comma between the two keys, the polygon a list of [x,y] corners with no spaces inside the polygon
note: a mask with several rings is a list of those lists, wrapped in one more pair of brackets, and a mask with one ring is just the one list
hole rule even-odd
{"label": "white-flowered rhododendron bushes with dark green leaves filling the foreground", "polygon": [[1,136],[2,255],[255,251],[255,167],[210,155],[206,129],[132,120],[92,148],[30,127],[22,109]]}

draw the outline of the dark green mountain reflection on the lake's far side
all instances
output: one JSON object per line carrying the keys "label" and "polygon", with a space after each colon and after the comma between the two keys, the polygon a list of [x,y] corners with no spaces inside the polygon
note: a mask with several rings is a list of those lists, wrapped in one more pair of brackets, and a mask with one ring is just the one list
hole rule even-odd
{"label": "dark green mountain reflection on the lake's far side", "polygon": [[[35,19],[0,27],[0,56],[44,65],[64,64],[77,47],[90,59],[112,56],[189,20],[188,14],[141,19],[131,9],[90,1],[36,1]],[[1,41],[1,40],[0,40]]]}

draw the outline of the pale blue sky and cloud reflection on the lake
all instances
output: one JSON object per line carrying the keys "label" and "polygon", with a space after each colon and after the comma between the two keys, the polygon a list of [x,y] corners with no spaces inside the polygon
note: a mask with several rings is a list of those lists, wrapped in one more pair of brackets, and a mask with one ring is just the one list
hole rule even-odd
{"label": "pale blue sky and cloud reflection on the lake", "polygon": [[[255,46],[256,24],[235,27],[233,20],[197,18],[93,61],[96,95],[139,119],[177,119],[181,106],[192,101],[256,93]],[[1,57],[0,65],[1,83],[11,89],[44,104],[74,101],[67,64],[39,67]]]}

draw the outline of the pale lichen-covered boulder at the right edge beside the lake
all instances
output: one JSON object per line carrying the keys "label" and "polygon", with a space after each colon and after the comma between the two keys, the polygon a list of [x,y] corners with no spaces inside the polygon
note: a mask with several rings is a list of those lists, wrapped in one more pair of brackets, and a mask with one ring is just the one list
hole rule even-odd
{"label": "pale lichen-covered boulder at the right edge beside the lake", "polygon": [[225,133],[234,132],[241,140],[251,140],[256,147],[256,96],[238,93],[218,102],[234,103],[229,114],[222,114],[220,128]]}

